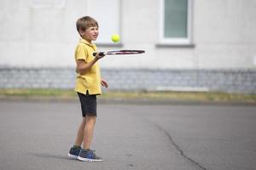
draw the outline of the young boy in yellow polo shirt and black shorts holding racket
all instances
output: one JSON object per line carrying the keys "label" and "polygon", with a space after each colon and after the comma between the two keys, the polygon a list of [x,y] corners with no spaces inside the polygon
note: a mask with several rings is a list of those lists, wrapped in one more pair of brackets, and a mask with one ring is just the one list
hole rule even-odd
{"label": "young boy in yellow polo shirt and black shorts holding racket", "polygon": [[108,88],[108,82],[102,80],[97,63],[103,56],[99,54],[93,56],[96,45],[92,41],[96,41],[98,37],[98,24],[90,16],[84,16],[77,20],[76,26],[82,38],[75,49],[78,73],[75,91],[79,95],[83,121],[79,125],[75,143],[69,150],[68,156],[80,161],[102,161],[96,156],[95,150],[90,150],[96,123],[96,95],[102,94],[101,85]]}

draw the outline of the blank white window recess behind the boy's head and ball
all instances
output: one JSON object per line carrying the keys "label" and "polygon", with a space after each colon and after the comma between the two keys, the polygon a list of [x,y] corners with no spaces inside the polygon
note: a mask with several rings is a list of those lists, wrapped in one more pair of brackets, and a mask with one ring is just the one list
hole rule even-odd
{"label": "blank white window recess behind the boy's head and ball", "polygon": [[100,27],[100,36],[96,43],[113,45],[111,36],[120,35],[120,0],[89,0],[88,2],[88,14],[98,21]]}

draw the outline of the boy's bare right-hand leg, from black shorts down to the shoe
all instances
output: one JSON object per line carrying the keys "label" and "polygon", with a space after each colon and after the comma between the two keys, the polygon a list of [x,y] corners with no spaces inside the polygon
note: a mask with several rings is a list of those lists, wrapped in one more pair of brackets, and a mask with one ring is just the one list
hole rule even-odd
{"label": "boy's bare right-hand leg, from black shorts down to the shoe", "polygon": [[90,150],[90,144],[93,138],[94,127],[96,123],[96,116],[87,115],[85,117],[85,126],[84,126],[84,150]]}

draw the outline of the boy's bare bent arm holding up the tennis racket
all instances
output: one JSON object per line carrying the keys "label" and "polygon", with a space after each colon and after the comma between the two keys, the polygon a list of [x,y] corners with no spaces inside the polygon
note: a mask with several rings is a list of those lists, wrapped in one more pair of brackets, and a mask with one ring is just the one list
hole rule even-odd
{"label": "boy's bare bent arm holding up the tennis racket", "polygon": [[102,57],[104,56],[100,56],[98,53],[96,54],[95,58],[92,59],[90,62],[86,63],[84,59],[77,59],[76,62],[77,62],[77,68],[76,68],[76,71],[79,73],[79,74],[85,74],[86,71],[88,71],[92,65],[94,65],[97,60],[99,59],[102,59]]}

